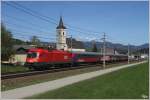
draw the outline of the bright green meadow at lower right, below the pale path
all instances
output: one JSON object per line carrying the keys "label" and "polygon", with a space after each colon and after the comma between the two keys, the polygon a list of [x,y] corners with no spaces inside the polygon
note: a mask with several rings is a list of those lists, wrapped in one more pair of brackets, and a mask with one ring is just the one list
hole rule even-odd
{"label": "bright green meadow at lower right, below the pale path", "polygon": [[65,86],[60,89],[34,95],[34,99],[105,99],[105,98],[143,98],[148,96],[148,63],[121,69],[93,79]]}

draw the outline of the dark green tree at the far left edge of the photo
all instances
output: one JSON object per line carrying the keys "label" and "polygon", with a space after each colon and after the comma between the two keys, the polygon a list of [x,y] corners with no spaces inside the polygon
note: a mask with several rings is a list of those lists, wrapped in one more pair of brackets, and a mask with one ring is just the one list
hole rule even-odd
{"label": "dark green tree at the far left edge of the photo", "polygon": [[8,60],[14,53],[12,47],[12,34],[3,24],[1,24],[1,59],[3,61]]}

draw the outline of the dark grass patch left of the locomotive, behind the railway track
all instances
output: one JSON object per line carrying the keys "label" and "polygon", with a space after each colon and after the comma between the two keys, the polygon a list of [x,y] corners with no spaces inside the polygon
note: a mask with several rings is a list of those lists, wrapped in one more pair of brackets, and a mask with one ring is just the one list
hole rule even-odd
{"label": "dark grass patch left of the locomotive, behind the railway track", "polygon": [[28,71],[29,69],[24,66],[11,66],[11,65],[1,65],[1,74],[5,73],[17,73]]}

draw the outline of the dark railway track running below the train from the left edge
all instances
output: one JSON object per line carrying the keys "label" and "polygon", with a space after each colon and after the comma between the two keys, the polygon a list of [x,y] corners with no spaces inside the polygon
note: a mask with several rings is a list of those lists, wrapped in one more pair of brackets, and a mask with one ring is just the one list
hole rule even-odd
{"label": "dark railway track running below the train from the left edge", "polygon": [[86,65],[81,65],[81,66],[76,66],[76,67],[54,68],[54,69],[42,70],[42,71],[27,71],[27,72],[20,72],[20,73],[14,73],[14,74],[4,74],[4,75],[1,75],[1,80],[24,77],[24,76],[46,74],[46,73],[52,73],[52,72],[59,72],[59,71],[67,71],[67,70],[73,70],[73,69],[81,69],[81,68],[87,68],[87,67],[96,67],[96,66],[101,66],[101,64],[96,64],[96,65],[86,64]]}

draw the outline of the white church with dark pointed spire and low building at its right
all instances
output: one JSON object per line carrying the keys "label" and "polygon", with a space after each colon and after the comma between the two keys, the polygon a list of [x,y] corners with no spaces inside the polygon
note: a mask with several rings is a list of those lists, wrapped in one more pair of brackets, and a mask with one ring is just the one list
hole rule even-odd
{"label": "white church with dark pointed spire and low building at its right", "polygon": [[69,48],[67,45],[67,28],[63,24],[62,17],[60,17],[59,25],[56,27],[56,49],[57,50],[65,50],[65,51],[80,51],[84,52],[85,49],[79,48]]}

